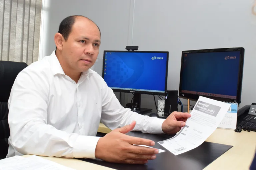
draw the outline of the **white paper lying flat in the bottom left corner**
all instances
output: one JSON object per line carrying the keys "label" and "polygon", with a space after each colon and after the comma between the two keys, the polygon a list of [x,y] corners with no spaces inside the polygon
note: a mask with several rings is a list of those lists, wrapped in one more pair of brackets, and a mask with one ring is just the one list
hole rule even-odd
{"label": "white paper lying flat in the bottom left corner", "polygon": [[74,170],[55,162],[40,158],[38,156],[30,156],[24,158],[14,156],[0,160],[0,170]]}

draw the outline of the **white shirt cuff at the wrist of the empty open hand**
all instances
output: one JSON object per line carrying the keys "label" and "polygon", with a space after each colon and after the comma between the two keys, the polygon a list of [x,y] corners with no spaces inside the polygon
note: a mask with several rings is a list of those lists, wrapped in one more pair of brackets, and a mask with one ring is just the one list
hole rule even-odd
{"label": "white shirt cuff at the wrist of the empty open hand", "polygon": [[95,149],[100,137],[79,135],[74,145],[74,158],[95,159]]}

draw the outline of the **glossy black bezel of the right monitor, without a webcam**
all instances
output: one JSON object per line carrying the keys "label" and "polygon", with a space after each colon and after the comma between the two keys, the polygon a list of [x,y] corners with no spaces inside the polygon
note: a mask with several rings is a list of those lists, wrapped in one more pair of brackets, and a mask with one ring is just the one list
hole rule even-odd
{"label": "glossy black bezel of the right monitor, without a webcam", "polygon": [[[182,93],[182,74],[183,74],[183,60],[185,53],[205,53],[205,52],[225,52],[225,51],[240,51],[240,61],[239,61],[239,72],[238,72],[238,85],[237,85],[237,96],[236,99],[223,98],[223,97],[212,97],[208,95],[198,95],[198,94],[188,94]],[[244,65],[244,48],[243,47],[232,47],[232,48],[213,48],[213,49],[199,49],[199,50],[186,50],[182,51],[181,54],[181,67],[180,67],[180,84],[179,84],[179,96],[181,98],[198,100],[199,96],[204,96],[214,100],[222,102],[233,102],[241,103],[241,93],[242,93],[242,80],[243,80],[243,65]]]}

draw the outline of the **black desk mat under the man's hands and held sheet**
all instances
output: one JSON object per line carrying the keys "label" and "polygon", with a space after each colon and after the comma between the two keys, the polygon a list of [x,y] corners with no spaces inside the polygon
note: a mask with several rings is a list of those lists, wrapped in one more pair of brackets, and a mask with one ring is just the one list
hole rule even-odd
{"label": "black desk mat under the man's hands and held sheet", "polygon": [[[147,134],[142,132],[129,132],[131,136],[142,137],[155,141],[155,148],[166,150],[158,141],[171,138],[165,134]],[[117,170],[201,170],[215,159],[220,157],[231,147],[230,145],[204,142],[195,149],[175,156],[168,150],[156,155],[156,159],[149,160],[144,165],[117,164],[102,161],[100,159],[80,159],[86,162],[106,166]]]}

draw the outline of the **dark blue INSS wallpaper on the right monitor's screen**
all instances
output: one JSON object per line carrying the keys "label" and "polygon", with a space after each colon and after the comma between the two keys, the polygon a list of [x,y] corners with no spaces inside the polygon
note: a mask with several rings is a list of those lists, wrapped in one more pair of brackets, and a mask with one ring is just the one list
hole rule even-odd
{"label": "dark blue INSS wallpaper on the right monitor's screen", "polygon": [[237,95],[240,51],[183,55],[182,90]]}

